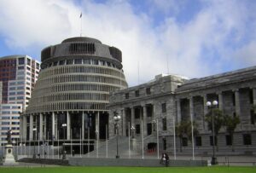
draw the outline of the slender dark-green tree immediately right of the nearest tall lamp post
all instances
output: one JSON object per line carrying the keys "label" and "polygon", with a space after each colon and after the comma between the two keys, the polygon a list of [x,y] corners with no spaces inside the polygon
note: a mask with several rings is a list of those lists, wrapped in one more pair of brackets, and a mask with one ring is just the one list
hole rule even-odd
{"label": "slender dark-green tree immediately right of the nearest tall lamp post", "polygon": [[233,137],[234,137],[234,132],[236,130],[237,124],[240,124],[240,118],[238,116],[230,116],[226,115],[224,117],[224,124],[226,126],[226,131],[229,133],[230,138],[231,138],[231,146],[232,146],[232,152],[234,152],[234,147],[233,147]]}

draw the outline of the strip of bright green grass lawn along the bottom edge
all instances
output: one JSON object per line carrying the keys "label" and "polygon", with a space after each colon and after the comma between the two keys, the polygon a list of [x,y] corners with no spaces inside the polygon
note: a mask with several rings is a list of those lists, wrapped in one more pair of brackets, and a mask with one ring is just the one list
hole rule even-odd
{"label": "strip of bright green grass lawn along the bottom edge", "polygon": [[255,173],[256,167],[182,167],[182,168],[148,168],[148,167],[46,167],[46,168],[4,168],[1,173]]}

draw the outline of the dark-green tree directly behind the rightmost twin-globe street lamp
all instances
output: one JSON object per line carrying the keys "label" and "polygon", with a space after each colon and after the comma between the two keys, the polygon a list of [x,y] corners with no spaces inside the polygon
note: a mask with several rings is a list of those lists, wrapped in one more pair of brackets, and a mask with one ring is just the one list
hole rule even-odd
{"label": "dark-green tree directly behind the rightmost twin-globe street lamp", "polygon": [[214,136],[217,137],[220,128],[224,126],[224,113],[218,108],[212,108],[211,111],[207,112],[206,121],[208,124],[208,129],[211,131],[212,131],[212,116],[213,116],[213,125],[214,125]]}

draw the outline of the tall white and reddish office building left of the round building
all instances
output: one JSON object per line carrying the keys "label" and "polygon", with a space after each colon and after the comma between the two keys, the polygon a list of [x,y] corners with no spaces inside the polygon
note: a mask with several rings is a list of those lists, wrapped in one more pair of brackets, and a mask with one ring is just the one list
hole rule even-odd
{"label": "tall white and reddish office building left of the round building", "polygon": [[7,142],[8,130],[19,140],[20,112],[26,110],[39,70],[40,63],[27,55],[0,58],[0,145]]}

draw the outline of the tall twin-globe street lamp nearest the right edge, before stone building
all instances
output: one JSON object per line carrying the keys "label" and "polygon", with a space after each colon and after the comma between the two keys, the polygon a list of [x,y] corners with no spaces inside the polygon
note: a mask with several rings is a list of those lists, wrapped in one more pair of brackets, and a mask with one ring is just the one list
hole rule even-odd
{"label": "tall twin-globe street lamp nearest the right edge, before stone building", "polygon": [[217,158],[215,157],[215,131],[214,131],[214,116],[213,108],[217,107],[218,101],[207,101],[207,107],[212,109],[212,161],[211,164],[217,164]]}

